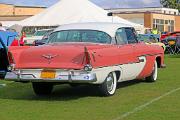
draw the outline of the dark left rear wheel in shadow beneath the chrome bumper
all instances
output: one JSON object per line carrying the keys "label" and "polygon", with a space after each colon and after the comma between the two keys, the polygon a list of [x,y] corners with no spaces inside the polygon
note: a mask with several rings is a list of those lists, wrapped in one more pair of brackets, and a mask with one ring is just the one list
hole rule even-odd
{"label": "dark left rear wheel in shadow beneath the chrome bumper", "polygon": [[51,83],[33,82],[32,86],[36,95],[49,95],[53,90],[53,84]]}

